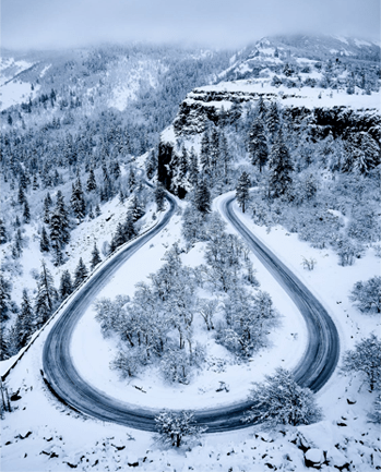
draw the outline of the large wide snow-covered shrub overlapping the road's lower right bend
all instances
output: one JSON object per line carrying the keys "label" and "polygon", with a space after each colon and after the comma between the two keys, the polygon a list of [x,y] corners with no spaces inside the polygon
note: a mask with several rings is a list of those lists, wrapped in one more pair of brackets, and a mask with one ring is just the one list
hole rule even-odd
{"label": "large wide snow-covered shrub overlapping the road's lower right bend", "polygon": [[277,368],[275,375],[254,384],[250,400],[253,406],[242,421],[262,423],[269,427],[278,424],[297,426],[320,421],[322,412],[309,388],[300,387],[290,372]]}

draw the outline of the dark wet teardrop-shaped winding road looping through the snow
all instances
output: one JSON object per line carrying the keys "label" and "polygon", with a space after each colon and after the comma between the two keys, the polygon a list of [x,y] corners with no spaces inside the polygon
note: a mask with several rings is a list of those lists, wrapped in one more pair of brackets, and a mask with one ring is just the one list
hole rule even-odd
{"label": "dark wet teardrop-shaped winding road looping through the snow", "polygon": [[[155,431],[154,419],[158,411],[119,401],[86,384],[73,365],[70,340],[79,319],[109,278],[168,223],[177,205],[171,195],[168,195],[167,199],[169,209],[163,219],[103,264],[72,296],[53,324],[43,352],[44,378],[61,401],[98,420],[144,431]],[[237,218],[233,210],[233,196],[223,201],[222,214],[286,290],[306,320],[309,334],[308,348],[294,374],[299,385],[318,391],[328,382],[337,364],[340,342],[336,327],[307,287]],[[247,426],[241,422],[241,417],[251,404],[243,401],[229,407],[209,408],[197,411],[194,416],[198,423],[207,426],[209,433],[237,429]]]}

